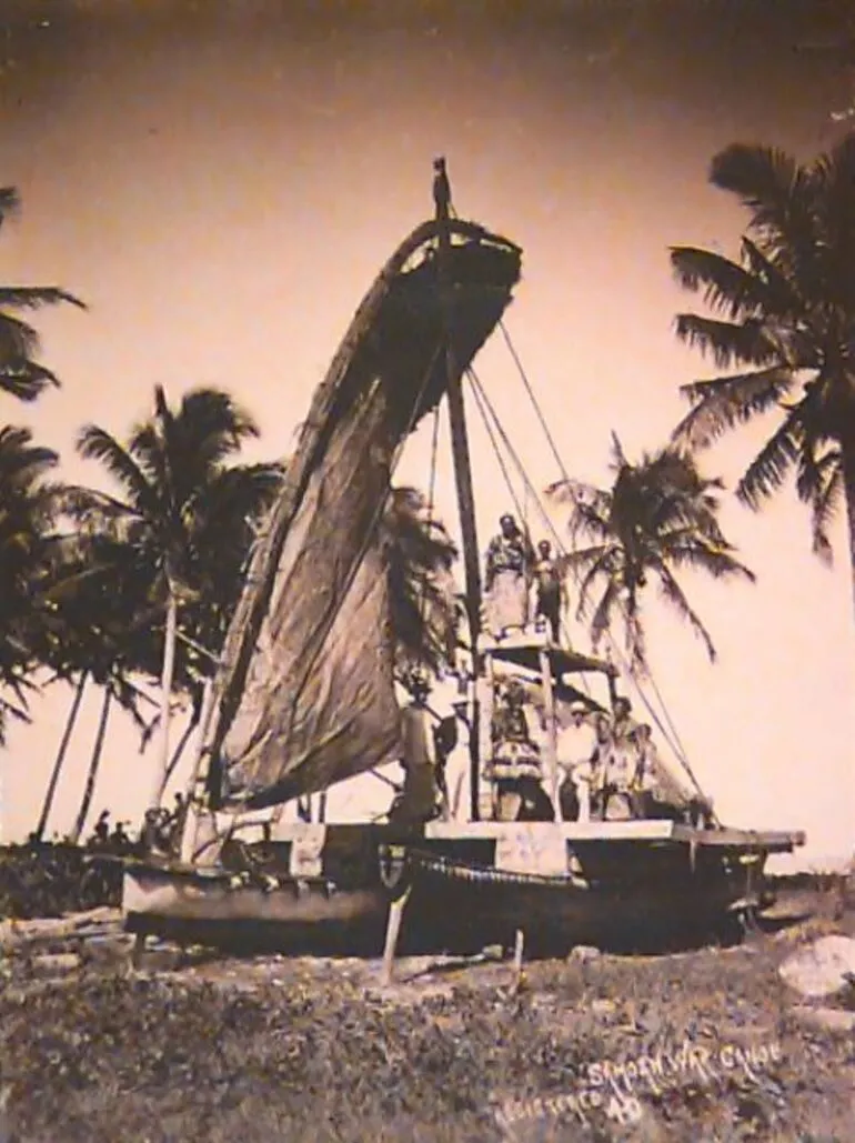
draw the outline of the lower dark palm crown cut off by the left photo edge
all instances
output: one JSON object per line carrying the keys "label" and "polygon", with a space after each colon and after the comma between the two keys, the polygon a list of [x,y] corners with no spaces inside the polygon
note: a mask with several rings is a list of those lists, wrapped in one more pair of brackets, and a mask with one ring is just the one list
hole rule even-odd
{"label": "lower dark palm crown cut off by the left photo edge", "polygon": [[0,712],[23,718],[39,663],[33,598],[54,542],[57,462],[29,429],[0,427]]}

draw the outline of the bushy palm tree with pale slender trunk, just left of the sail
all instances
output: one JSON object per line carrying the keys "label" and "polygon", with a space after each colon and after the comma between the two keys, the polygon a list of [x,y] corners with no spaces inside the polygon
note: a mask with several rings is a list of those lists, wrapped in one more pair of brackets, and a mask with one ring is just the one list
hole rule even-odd
{"label": "bushy palm tree with pale slender trunk, just left of the sail", "polygon": [[[281,471],[273,464],[226,465],[259,434],[227,393],[197,389],[173,411],[157,386],[154,405],[153,416],[136,425],[126,443],[97,425],[81,430],[78,450],[104,465],[120,495],[77,488],[67,503],[78,519],[89,521],[99,545],[90,575],[102,590],[121,584],[125,592],[129,665],[157,673],[157,648],[160,766],[152,804],[159,805],[169,768],[174,686],[189,688],[210,673],[255,527]],[[178,648],[179,631],[195,648],[190,654]],[[200,645],[207,655],[199,655]]]}

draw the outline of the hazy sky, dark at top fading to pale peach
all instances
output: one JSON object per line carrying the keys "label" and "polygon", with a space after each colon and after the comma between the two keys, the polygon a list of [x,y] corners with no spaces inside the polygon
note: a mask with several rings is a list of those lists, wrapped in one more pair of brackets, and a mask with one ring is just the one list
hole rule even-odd
{"label": "hazy sky, dark at top fading to pale peach", "polygon": [[[524,248],[509,330],[567,469],[602,480],[613,429],[631,454],[655,448],[684,409],[678,385],[712,371],[674,338],[674,313],[695,299],[668,265],[674,243],[735,253],[743,215],[708,186],[711,157],[741,141],[809,158],[833,141],[849,79],[792,43],[844,10],[7,0],[0,182],[24,213],[0,234],[2,280],[62,285],[90,312],[38,317],[63,387],[37,407],[5,400],[0,419],[31,424],[69,478],[95,480],[73,454],[83,422],[121,434],[155,383],[173,399],[210,384],[258,417],[253,455],[288,451],[363,291],[431,213],[441,152],[458,214]],[[557,479],[501,338],[476,365],[535,483]],[[484,545],[509,499],[471,411]],[[717,448],[708,471],[733,485],[765,430]],[[416,439],[399,479],[424,486],[426,458]],[[439,501],[456,527],[452,494],[446,461]],[[758,584],[685,581],[716,666],[653,601],[656,679],[726,820],[805,828],[808,862],[845,854],[855,628],[842,520],[831,572],[794,496],[760,515],[728,501],[724,522]],[[32,728],[11,729],[7,837],[38,816],[69,700],[56,689]],[[73,820],[97,708],[90,697],[51,829]],[[94,812],[138,817],[153,761],[114,725]]]}

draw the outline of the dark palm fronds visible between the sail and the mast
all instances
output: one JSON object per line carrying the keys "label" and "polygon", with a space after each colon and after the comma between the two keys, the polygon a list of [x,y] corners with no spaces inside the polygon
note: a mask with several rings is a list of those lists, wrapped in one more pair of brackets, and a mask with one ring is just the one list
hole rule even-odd
{"label": "dark palm fronds visible between the sail and the mast", "polygon": [[456,637],[452,567],[457,550],[417,488],[391,489],[382,529],[399,670],[436,671],[449,661]]}

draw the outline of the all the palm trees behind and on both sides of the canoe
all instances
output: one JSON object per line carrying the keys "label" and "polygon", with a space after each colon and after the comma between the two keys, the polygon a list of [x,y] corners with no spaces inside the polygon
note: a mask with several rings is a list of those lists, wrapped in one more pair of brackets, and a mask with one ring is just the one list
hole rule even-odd
{"label": "all the palm trees behind and on both sides of the canoe", "polygon": [[[568,509],[564,566],[577,578],[577,616],[594,647],[620,630],[639,674],[649,671],[642,604],[653,584],[714,661],[678,576],[695,569],[754,582],[719,523],[725,486],[702,474],[698,454],[762,414],[777,419],[737,499],[759,510],[794,473],[825,562],[829,526],[842,507],[855,597],[855,133],[806,163],[734,144],[712,160],[710,181],[748,211],[738,256],[677,246],[670,261],[677,281],[710,311],[678,314],[677,336],[725,371],[681,386],[689,411],[657,450],[631,462],[613,434],[609,487],[564,480],[548,489]],[[18,208],[16,192],[0,189],[0,226]],[[0,287],[6,397],[34,401],[59,383],[34,360],[38,335],[19,317],[57,304],[85,309],[58,287]],[[43,687],[62,680],[73,688],[37,837],[89,686],[99,688],[102,706],[71,839],[80,839],[91,808],[114,706],[137,725],[141,749],[158,736],[151,801],[160,804],[282,480],[279,462],[240,461],[259,433],[222,390],[191,390],[171,407],[155,386],[152,413],[127,438],[96,424],[78,433],[79,455],[99,463],[115,489],[106,493],[61,481],[54,450],[25,427],[0,427],[0,744],[6,721],[29,719]],[[415,488],[392,490],[383,528],[401,671],[436,670],[456,640],[455,545]],[[146,690],[155,681],[159,700]],[[173,749],[175,700],[192,713]]]}

